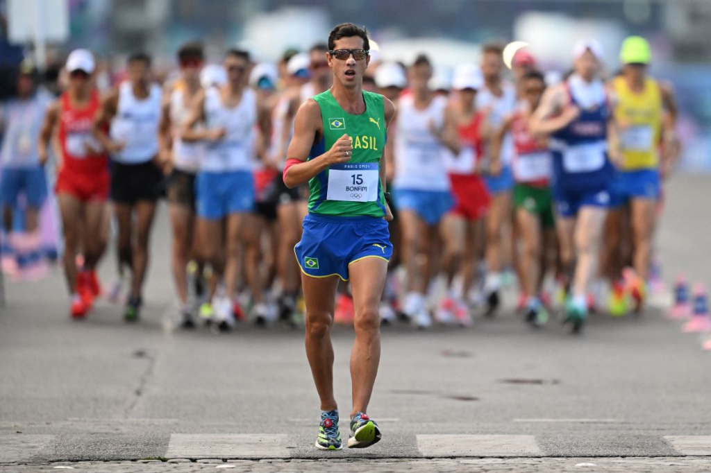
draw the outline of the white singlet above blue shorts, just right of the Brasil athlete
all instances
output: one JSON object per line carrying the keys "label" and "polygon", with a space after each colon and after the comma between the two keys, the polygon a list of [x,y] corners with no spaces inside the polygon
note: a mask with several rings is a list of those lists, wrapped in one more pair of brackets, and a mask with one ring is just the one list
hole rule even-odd
{"label": "white singlet above blue shorts, just right of the Brasil athlete", "polygon": [[395,187],[449,190],[444,146],[430,131],[430,124],[442,127],[446,107],[444,97],[433,97],[429,107],[423,110],[415,108],[412,95],[400,99],[395,132]]}

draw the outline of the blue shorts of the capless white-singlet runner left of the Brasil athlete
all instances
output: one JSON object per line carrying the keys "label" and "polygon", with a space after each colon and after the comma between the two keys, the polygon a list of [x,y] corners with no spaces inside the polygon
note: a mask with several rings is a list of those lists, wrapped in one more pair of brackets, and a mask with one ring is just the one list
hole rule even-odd
{"label": "blue shorts of the capless white-singlet runner left of the Brasil athlete", "polygon": [[217,220],[229,214],[252,212],[255,181],[248,171],[200,172],[195,179],[196,209],[205,219]]}

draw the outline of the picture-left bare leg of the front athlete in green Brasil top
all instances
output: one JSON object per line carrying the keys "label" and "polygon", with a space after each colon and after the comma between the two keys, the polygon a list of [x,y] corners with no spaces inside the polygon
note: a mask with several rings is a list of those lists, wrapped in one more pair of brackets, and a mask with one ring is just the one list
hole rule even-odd
{"label": "picture-left bare leg of the front athlete in green Brasil top", "polygon": [[321,399],[321,411],[337,409],[333,397],[333,344],[331,327],[336,308],[338,276],[312,278],[303,274],[301,286],[306,301],[306,357]]}

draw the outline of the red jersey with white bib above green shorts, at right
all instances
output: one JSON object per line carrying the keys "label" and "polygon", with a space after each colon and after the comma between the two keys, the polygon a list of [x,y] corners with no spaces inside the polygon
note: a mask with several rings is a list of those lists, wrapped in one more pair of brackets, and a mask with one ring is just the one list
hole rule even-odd
{"label": "red jersey with white bib above green shorts, at right", "polygon": [[511,169],[517,183],[546,187],[552,173],[552,154],[547,142],[528,133],[527,117],[515,112],[511,121],[513,161]]}

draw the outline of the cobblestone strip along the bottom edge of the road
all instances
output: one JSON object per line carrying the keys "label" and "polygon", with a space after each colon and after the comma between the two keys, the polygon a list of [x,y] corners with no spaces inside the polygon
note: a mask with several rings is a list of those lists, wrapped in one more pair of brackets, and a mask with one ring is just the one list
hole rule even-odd
{"label": "cobblestone strip along the bottom edge of the road", "polygon": [[210,472],[233,473],[305,472],[334,468],[340,472],[708,472],[711,457],[630,458],[480,458],[439,460],[140,460],[138,462],[81,462],[53,464],[5,464],[0,472],[48,472],[63,469],[92,473]]}

